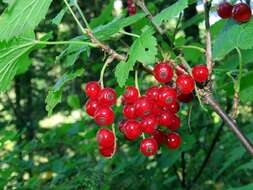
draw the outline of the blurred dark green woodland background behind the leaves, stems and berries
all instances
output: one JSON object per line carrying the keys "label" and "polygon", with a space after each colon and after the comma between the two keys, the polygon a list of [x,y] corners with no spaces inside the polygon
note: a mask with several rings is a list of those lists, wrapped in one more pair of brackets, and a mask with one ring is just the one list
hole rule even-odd
{"label": "blurred dark green woodland background behind the leaves, stems and berries", "polygon": [[[174,2],[150,0],[147,4],[155,14]],[[213,37],[224,25],[223,21],[216,22],[215,3],[217,1],[211,15]],[[108,9],[110,2],[83,0],[79,1],[79,5],[94,25],[111,21],[117,13],[114,10],[113,16],[94,21],[101,11]],[[111,1],[111,5],[115,2]],[[126,1],[123,6],[126,7]],[[5,7],[0,3],[1,12]],[[36,28],[37,36],[51,32],[52,40],[58,41],[80,35],[68,13],[61,24],[52,23],[63,7],[63,1],[53,1],[46,19]],[[177,20],[175,18],[166,25],[169,36],[173,36]],[[145,22],[143,20],[137,26]],[[203,42],[203,12],[201,2],[196,2],[184,11],[175,33],[175,44],[204,47]],[[124,52],[132,39],[115,36],[108,43]],[[162,47],[166,48],[166,44]],[[8,92],[0,94],[0,189],[253,189],[252,158],[229,129],[223,126],[219,117],[212,110],[203,111],[197,100],[181,107],[182,126],[179,131],[183,145],[179,150],[161,147],[158,155],[147,158],[139,153],[139,140],[128,142],[117,130],[117,153],[111,159],[101,157],[95,139],[98,126],[83,109],[87,99],[83,87],[86,82],[99,79],[104,55],[100,50],[92,50],[89,58],[83,51],[60,56],[64,51],[65,46],[47,46],[34,51],[30,56],[33,64],[29,70],[16,76]],[[247,70],[252,69],[252,53],[253,50],[243,52]],[[205,63],[204,56],[196,50],[187,49],[184,54],[192,65]],[[229,85],[224,88],[224,84],[229,84],[231,79],[225,73],[236,68],[237,60],[236,53],[231,52],[214,71],[215,96],[228,110],[232,96],[224,90]],[[66,71],[70,72],[68,65],[72,65],[73,61],[75,68],[85,69],[84,74],[64,85],[61,89],[62,102],[48,116],[45,109],[48,90],[61,80]],[[105,75],[106,86],[114,87],[120,94],[123,89],[118,87],[113,71],[112,65]],[[131,77],[129,84],[133,84]],[[143,91],[155,83],[145,73],[141,73],[140,78]],[[238,125],[252,140],[253,102],[249,93],[252,94],[253,89],[246,90],[239,107]],[[115,110],[118,123],[122,119],[122,114],[119,114],[122,107],[117,106]],[[214,144],[209,160],[202,168]]]}

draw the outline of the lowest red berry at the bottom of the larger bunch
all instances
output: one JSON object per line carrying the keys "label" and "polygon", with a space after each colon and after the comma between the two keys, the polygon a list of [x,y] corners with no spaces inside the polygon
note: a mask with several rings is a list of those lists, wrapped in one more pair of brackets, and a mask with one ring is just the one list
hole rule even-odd
{"label": "lowest red berry at the bottom of the larger bunch", "polygon": [[145,156],[152,156],[157,153],[158,144],[154,138],[146,138],[141,141],[140,151]]}

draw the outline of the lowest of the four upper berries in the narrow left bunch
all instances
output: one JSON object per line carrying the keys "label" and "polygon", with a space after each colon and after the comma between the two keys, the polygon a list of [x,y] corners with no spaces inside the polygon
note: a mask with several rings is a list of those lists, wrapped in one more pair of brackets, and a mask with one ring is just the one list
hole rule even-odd
{"label": "lowest of the four upper berries in the narrow left bunch", "polygon": [[99,108],[94,119],[99,126],[111,125],[114,122],[114,112],[109,107]]}

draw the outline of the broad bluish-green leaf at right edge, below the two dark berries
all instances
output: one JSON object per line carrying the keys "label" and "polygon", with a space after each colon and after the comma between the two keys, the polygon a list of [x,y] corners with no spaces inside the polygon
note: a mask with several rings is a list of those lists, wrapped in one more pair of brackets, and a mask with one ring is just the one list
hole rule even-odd
{"label": "broad bluish-green leaf at right edge, below the two dark berries", "polygon": [[250,49],[253,47],[253,20],[239,25],[227,21],[223,30],[217,36],[213,46],[213,58],[222,59],[235,48]]}

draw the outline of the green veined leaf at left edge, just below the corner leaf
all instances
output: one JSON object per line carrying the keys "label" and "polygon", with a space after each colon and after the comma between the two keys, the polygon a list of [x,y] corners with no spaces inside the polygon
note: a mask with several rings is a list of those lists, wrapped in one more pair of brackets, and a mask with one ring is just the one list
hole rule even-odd
{"label": "green veined leaf at left edge, just below the corner leaf", "polygon": [[0,43],[0,91],[5,91],[14,76],[28,68],[31,62],[23,63],[34,45],[34,42],[25,39]]}

